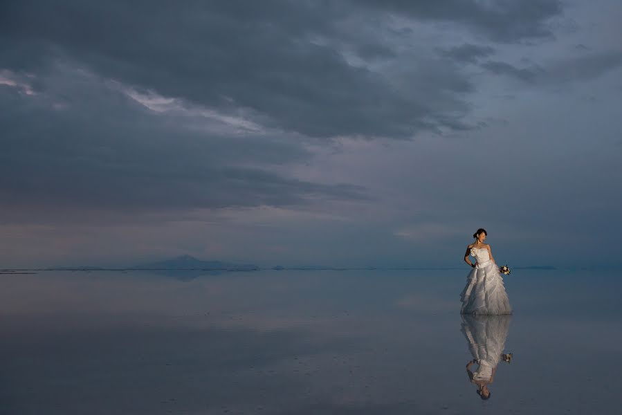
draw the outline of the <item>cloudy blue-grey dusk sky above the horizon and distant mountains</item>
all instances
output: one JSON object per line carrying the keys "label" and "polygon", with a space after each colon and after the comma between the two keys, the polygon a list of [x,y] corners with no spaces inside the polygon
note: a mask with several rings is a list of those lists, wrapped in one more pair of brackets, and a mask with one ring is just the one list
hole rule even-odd
{"label": "cloudy blue-grey dusk sky above the horizon and distant mountains", "polygon": [[619,0],[3,1],[0,268],[460,266],[477,228],[500,264],[622,265],[621,20]]}

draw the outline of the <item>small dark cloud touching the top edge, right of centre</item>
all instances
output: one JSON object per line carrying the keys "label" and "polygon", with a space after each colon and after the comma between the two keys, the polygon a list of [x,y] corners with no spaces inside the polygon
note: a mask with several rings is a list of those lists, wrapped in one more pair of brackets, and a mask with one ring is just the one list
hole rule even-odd
{"label": "small dark cloud touching the top edge, right of centre", "polygon": [[462,24],[496,42],[552,37],[548,20],[562,13],[559,0],[363,0],[360,3],[414,19]]}

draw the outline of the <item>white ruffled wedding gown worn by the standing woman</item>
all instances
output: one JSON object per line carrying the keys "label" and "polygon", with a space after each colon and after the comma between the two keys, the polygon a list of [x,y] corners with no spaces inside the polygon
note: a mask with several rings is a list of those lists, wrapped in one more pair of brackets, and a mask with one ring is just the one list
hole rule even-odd
{"label": "white ruffled wedding gown worn by the standing woman", "polygon": [[505,292],[503,278],[497,265],[491,261],[486,248],[471,248],[470,255],[477,266],[466,277],[466,286],[460,294],[462,314],[511,314],[512,308]]}

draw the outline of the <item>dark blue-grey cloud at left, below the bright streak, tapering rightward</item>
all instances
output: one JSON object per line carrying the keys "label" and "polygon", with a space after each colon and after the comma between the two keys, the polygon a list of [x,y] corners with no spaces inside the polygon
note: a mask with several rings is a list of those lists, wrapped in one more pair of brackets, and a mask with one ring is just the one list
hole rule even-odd
{"label": "dark blue-grey cloud at left, below the bright streak, tapering rightward", "polygon": [[5,207],[184,210],[366,197],[361,187],[267,169],[308,160],[298,143],[206,133],[192,118],[149,111],[88,73],[60,68],[54,75],[39,78],[32,95],[0,85]]}

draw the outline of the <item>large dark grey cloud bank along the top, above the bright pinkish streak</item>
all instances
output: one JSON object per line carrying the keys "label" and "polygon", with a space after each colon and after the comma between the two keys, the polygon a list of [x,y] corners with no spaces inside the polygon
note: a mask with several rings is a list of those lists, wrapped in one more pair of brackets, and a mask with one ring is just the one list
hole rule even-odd
{"label": "large dark grey cloud bank along the top, above the bright pinkish streak", "polygon": [[[348,62],[340,48],[365,59],[396,53],[357,28],[358,16],[367,22],[376,9],[354,13],[355,5],[13,2],[0,21],[0,66],[36,75],[70,59],[138,89],[219,111],[248,109],[268,127],[314,137],[410,138],[461,125],[468,105],[460,94],[470,88],[459,68],[439,77],[439,64],[419,54],[390,77]],[[381,32],[382,22],[372,24]]]}

